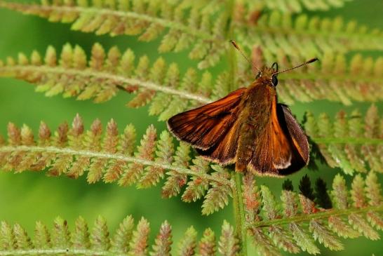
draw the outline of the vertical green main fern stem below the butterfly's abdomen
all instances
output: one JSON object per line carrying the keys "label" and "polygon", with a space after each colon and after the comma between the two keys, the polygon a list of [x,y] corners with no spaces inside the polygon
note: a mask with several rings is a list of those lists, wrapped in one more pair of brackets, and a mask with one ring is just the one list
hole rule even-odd
{"label": "vertical green main fern stem below the butterfly's abdomen", "polygon": [[233,191],[234,217],[236,220],[236,235],[241,241],[241,255],[248,255],[247,229],[245,222],[245,210],[243,208],[241,173],[234,174],[235,189]]}

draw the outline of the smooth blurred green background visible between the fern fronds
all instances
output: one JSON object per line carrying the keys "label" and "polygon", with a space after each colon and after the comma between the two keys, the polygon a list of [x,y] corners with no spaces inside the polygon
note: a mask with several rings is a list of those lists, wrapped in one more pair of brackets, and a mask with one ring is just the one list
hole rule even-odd
{"label": "smooth blurred green background visible between the fern fronds", "polygon": [[[383,27],[383,1],[364,0],[351,1],[340,9],[332,9],[326,13],[309,13],[321,16],[334,17],[341,15],[345,20],[355,19],[368,27]],[[64,43],[79,44],[87,53],[94,42],[102,43],[105,48],[117,45],[121,50],[132,48],[137,56],[147,54],[151,60],[155,60],[159,54],[156,52],[158,41],[143,43],[136,41],[135,37],[118,36],[95,36],[73,32],[69,25],[49,23],[45,19],[34,16],[21,15],[8,10],[0,10],[0,59],[6,56],[17,56],[19,51],[29,55],[32,50],[45,52],[46,46],[53,45],[58,50]],[[238,42],[241,43],[241,42]],[[382,42],[383,43],[383,42]],[[267,47],[267,46],[265,46]],[[377,56],[379,53],[363,53],[365,55]],[[380,53],[382,54],[382,53]],[[196,62],[187,58],[187,52],[182,54],[167,53],[162,55],[166,60],[177,62],[182,71],[188,67],[196,67]],[[311,58],[312,56],[307,56]],[[224,68],[224,65],[215,67],[213,72]],[[282,84],[280,86],[283,86]],[[117,97],[102,104],[93,104],[91,101],[76,101],[74,99],[63,99],[60,95],[56,97],[45,97],[41,93],[34,92],[34,86],[15,79],[0,79],[0,133],[6,135],[8,121],[21,126],[27,123],[37,130],[41,120],[55,129],[62,121],[72,122],[76,113],[79,113],[86,128],[90,123],[99,118],[104,125],[109,119],[114,119],[119,124],[119,129],[128,123],[135,124],[137,133],[141,136],[150,123],[154,123],[161,131],[166,128],[163,122],[156,121],[156,117],[148,116],[147,109],[129,109],[125,107],[131,98],[126,93],[119,93]],[[382,112],[382,102],[377,104]],[[362,112],[368,108],[368,104],[355,103],[351,107],[342,106],[334,102],[314,102],[310,104],[293,105],[291,109],[302,119],[305,110],[318,114],[328,112],[333,116],[339,109],[358,108]],[[291,175],[295,188],[300,178],[309,174],[315,180],[322,177],[329,184],[336,173],[340,170],[330,169],[322,166],[320,171],[301,170]],[[350,180],[347,177],[347,180]],[[279,196],[283,179],[258,178],[258,184],[267,184]],[[117,184],[87,184],[82,177],[79,180],[71,180],[67,177],[46,177],[42,173],[4,173],[0,172],[0,220],[11,223],[18,222],[27,229],[29,234],[34,230],[34,222],[41,220],[51,227],[53,219],[60,215],[73,227],[74,220],[82,215],[89,224],[92,224],[98,215],[107,218],[110,231],[114,231],[119,222],[126,215],[133,215],[136,220],[145,216],[152,227],[152,240],[163,220],[168,220],[173,226],[175,244],[184,231],[193,225],[199,236],[203,229],[212,227],[218,234],[223,220],[233,222],[232,206],[220,210],[208,217],[201,216],[201,201],[197,203],[182,203],[179,197],[171,199],[161,198],[161,186],[152,189],[135,189],[135,187],[119,187]],[[380,232],[381,236],[383,235]],[[344,241],[347,250],[342,252],[331,252],[321,246],[322,255],[382,255],[382,241],[368,241],[365,238]],[[250,254],[251,255],[251,254]],[[304,255],[304,253],[302,253]]]}

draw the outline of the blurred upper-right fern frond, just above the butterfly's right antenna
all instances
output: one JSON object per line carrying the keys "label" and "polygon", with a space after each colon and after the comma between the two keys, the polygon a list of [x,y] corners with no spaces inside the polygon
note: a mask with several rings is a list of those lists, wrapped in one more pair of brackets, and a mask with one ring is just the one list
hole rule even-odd
{"label": "blurred upper-right fern frond, just above the butterfly's right antenna", "polygon": [[264,48],[269,56],[285,54],[301,58],[321,58],[328,51],[347,53],[351,50],[383,50],[383,32],[368,29],[355,21],[342,18],[297,17],[288,13],[240,7],[235,20],[237,39],[243,46]]}

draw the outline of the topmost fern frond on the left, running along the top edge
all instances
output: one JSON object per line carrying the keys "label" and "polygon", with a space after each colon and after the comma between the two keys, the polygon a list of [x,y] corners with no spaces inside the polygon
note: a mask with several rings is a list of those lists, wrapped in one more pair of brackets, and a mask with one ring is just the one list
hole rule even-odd
{"label": "topmost fern frond on the left, running along the top edge", "polygon": [[[22,4],[0,1],[0,7],[38,15],[51,22],[72,23],[72,29],[112,36],[139,35],[141,41],[161,36],[160,52],[190,48],[199,67],[215,65],[225,48],[228,15],[217,1],[182,4],[177,1],[43,1]],[[215,17],[213,19],[213,16]]]}

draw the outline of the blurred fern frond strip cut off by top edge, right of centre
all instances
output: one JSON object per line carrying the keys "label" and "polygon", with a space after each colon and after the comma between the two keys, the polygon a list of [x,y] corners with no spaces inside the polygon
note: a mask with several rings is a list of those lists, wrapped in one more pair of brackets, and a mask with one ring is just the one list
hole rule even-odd
{"label": "blurred fern frond strip cut off by top edge, right of centre", "polygon": [[282,13],[301,13],[304,8],[309,11],[328,11],[330,8],[340,8],[349,1],[352,0],[244,0],[243,2],[252,8],[276,10]]}

